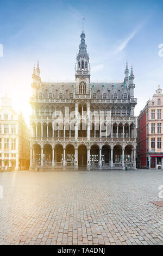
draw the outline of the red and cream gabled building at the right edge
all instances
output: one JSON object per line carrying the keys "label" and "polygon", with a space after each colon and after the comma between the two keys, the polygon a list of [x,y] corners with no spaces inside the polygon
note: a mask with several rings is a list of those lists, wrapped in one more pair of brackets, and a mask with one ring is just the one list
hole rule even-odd
{"label": "red and cream gabled building at the right edge", "polygon": [[156,90],[137,117],[137,167],[163,168],[163,94]]}

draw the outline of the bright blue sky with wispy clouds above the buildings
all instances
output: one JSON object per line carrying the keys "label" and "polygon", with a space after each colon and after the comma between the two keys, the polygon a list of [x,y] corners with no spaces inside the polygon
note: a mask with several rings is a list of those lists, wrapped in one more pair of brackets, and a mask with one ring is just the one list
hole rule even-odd
{"label": "bright blue sky with wispy clouds above the buildings", "polygon": [[128,60],[138,115],[158,84],[163,89],[162,9],[161,0],[1,2],[0,97],[8,93],[29,125],[34,63],[39,59],[42,81],[74,81],[84,16],[91,81],[122,81]]}

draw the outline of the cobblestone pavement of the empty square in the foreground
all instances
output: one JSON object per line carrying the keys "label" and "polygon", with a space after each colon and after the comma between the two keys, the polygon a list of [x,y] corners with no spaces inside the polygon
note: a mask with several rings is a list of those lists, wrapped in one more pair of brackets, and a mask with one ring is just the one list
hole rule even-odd
{"label": "cobblestone pavement of the empty square in the foreground", "polygon": [[1,245],[163,245],[162,170],[0,173]]}

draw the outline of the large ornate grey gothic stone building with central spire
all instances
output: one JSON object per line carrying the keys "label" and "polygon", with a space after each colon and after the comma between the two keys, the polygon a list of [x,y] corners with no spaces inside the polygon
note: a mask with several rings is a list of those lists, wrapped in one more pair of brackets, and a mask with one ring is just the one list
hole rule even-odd
{"label": "large ornate grey gothic stone building with central spire", "polygon": [[76,81],[47,83],[33,71],[30,97],[30,168],[136,167],[133,68],[121,83],[90,81],[85,34],[76,63]]}

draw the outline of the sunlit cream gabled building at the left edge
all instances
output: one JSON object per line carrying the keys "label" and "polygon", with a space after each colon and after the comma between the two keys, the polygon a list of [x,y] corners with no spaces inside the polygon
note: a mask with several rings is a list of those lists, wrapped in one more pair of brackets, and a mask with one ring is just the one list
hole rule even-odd
{"label": "sunlit cream gabled building at the left edge", "polygon": [[11,99],[2,97],[0,109],[0,166],[2,169],[29,169],[29,129],[11,106]]}

